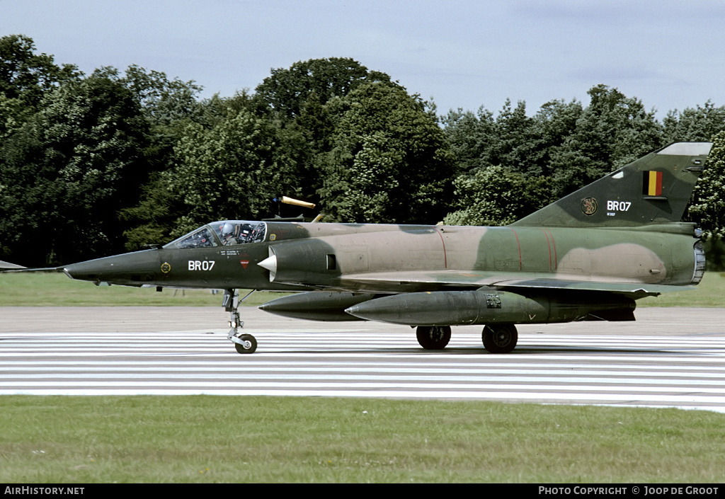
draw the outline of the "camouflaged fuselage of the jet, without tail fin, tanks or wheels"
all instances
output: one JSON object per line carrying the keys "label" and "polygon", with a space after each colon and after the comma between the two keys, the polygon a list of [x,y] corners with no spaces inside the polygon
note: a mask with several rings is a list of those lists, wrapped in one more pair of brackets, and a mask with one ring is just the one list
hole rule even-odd
{"label": "camouflaged fuselage of the jet, without tail fin, tanks or wheels", "polygon": [[[699,239],[689,223],[541,228],[254,222],[260,228],[264,224],[257,240],[225,245],[218,233],[230,222],[247,223],[225,220],[205,226],[204,244],[188,244],[199,228],[162,248],[76,263],[65,271],[73,279],[127,286],[382,293],[436,286],[370,282],[360,276],[510,273],[688,285],[702,275],[697,271]],[[270,257],[271,271],[269,265],[260,266]]]}

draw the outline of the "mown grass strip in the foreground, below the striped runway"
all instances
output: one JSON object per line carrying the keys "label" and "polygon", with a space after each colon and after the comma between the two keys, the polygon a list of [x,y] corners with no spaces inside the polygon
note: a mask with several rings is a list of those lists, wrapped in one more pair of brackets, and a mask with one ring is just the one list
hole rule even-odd
{"label": "mown grass strip in the foreground, below the striped runway", "polygon": [[725,415],[322,397],[0,397],[0,482],[710,483]]}

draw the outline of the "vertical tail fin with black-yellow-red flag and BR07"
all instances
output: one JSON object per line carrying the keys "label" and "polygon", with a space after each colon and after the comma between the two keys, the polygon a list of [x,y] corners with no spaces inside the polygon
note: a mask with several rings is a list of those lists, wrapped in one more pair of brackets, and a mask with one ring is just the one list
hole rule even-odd
{"label": "vertical tail fin with black-yellow-red flag and BR07", "polygon": [[634,227],[679,222],[712,146],[670,144],[512,225]]}

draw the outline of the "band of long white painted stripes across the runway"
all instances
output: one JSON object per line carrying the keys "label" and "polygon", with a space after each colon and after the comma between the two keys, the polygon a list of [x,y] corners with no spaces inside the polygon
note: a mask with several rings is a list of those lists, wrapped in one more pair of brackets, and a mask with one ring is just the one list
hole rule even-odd
{"label": "band of long white painted stripes across the runway", "polygon": [[[725,412],[725,337],[522,334],[492,355],[480,336],[443,351],[410,331],[0,334],[0,395],[313,395],[647,405]],[[250,331],[252,332],[252,331]]]}

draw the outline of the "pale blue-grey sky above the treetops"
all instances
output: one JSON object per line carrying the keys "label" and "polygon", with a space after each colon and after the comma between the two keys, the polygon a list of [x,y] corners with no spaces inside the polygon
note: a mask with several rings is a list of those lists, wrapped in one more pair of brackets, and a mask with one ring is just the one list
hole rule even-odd
{"label": "pale blue-grey sky above the treetops", "polygon": [[722,0],[0,0],[0,36],[57,63],[136,64],[204,96],[254,89],[271,68],[352,57],[411,94],[529,114],[589,102],[598,83],[668,110],[725,104]]}

